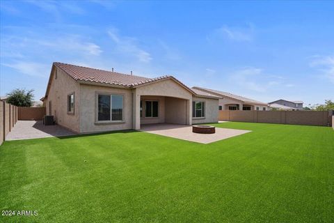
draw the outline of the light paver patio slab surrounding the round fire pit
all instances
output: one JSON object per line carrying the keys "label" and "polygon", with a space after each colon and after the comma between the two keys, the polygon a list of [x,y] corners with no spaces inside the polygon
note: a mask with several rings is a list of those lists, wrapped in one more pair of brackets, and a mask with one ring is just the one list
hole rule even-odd
{"label": "light paver patio slab surrounding the round fire pit", "polygon": [[159,134],[165,137],[183,139],[186,141],[194,141],[200,144],[209,144],[214,141],[228,139],[230,137],[235,137],[240,134],[251,132],[248,130],[216,128],[216,133],[214,134],[198,134],[192,132],[192,126],[190,125],[175,125],[167,123],[141,125],[141,131],[149,132],[152,134]]}

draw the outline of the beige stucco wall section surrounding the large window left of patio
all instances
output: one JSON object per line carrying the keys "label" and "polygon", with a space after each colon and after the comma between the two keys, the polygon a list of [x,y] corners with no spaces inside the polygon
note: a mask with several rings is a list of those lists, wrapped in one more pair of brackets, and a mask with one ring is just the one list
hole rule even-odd
{"label": "beige stucco wall section surrounding the large window left of patio", "polygon": [[[123,95],[123,122],[95,123],[96,93]],[[132,91],[109,86],[80,84],[80,132],[103,132],[132,129]]]}

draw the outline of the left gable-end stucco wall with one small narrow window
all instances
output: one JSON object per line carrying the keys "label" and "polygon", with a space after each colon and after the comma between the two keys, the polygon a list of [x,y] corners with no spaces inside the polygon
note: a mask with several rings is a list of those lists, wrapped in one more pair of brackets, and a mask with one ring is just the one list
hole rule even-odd
{"label": "left gable-end stucco wall with one small narrow window", "polygon": [[[45,102],[46,112],[49,115],[49,101],[51,100],[51,115],[56,123],[79,132],[79,83],[59,68],[54,69],[49,95]],[[67,114],[67,95],[74,92],[74,114]]]}

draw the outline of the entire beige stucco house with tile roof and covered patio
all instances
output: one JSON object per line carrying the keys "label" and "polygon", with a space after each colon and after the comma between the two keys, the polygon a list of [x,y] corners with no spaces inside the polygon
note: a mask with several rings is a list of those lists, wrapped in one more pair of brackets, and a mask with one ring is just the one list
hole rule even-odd
{"label": "entire beige stucco house with tile roof and covered patio", "polygon": [[139,130],[142,124],[218,122],[218,97],[173,76],[157,78],[53,63],[47,114],[74,132]]}

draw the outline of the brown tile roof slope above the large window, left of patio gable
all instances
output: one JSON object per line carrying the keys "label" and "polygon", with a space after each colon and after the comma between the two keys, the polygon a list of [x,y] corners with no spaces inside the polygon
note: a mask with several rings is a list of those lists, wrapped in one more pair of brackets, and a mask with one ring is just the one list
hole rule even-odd
{"label": "brown tile roof slope above the large window, left of patio gable", "polygon": [[83,66],[58,62],[55,62],[54,66],[66,72],[67,75],[70,75],[70,77],[76,81],[115,84],[125,87],[138,86],[140,84],[155,82],[170,77],[168,75],[155,78],[139,77],[136,75],[125,75],[120,72],[86,68]]}

